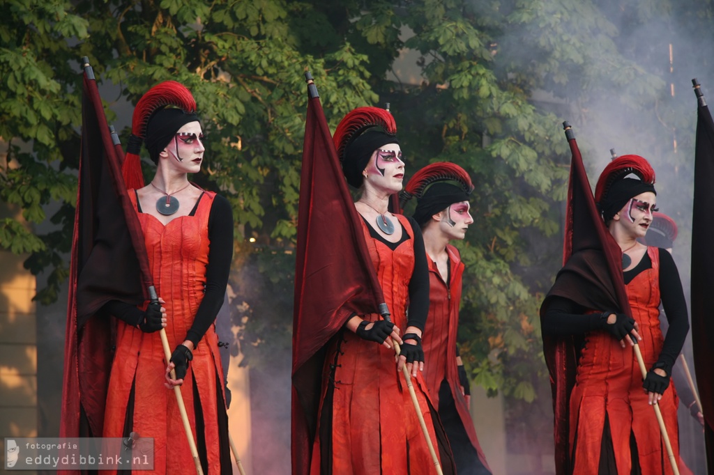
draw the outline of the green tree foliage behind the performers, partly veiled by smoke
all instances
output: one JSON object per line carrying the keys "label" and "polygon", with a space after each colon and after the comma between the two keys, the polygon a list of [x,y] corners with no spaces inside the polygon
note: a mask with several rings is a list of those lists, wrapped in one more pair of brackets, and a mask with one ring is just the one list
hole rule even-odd
{"label": "green tree foliage behind the performers, partly veiled by smoke", "polygon": [[[265,342],[288,347],[309,70],[333,128],[351,108],[390,102],[408,175],[434,160],[472,174],[476,223],[459,245],[462,354],[477,384],[526,403],[547,394],[538,307],[560,265],[569,159],[560,122],[613,139],[580,141],[598,156],[588,162],[593,173],[606,163],[603,150],[623,143],[654,155],[665,173],[690,176],[693,99],[681,91],[673,100],[669,86],[686,88],[689,72],[671,72],[664,50],[670,38],[708,31],[712,13],[708,2],[673,9],[665,0],[9,0],[5,11],[0,197],[29,223],[48,219],[45,205],[60,207],[49,218],[55,232],[33,235],[6,220],[0,244],[31,252],[34,273],[51,273],[39,300],[54,300],[66,278],[78,59],[89,56],[97,78],[120,88],[105,98],[114,101],[110,122],[112,107],[135,103],[159,81],[193,91],[210,138],[194,180],[221,190],[238,223],[232,282],[243,351],[258,364]],[[405,48],[420,56],[408,66],[421,83],[386,80]],[[677,57],[711,72],[703,59],[711,54]],[[608,129],[608,114],[641,120]],[[675,139],[678,153],[670,153]],[[688,192],[674,181],[665,188]]]}

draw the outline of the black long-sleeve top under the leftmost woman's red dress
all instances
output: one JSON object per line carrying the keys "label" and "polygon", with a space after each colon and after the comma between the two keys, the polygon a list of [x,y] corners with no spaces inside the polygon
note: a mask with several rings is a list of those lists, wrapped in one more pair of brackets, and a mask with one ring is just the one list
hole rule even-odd
{"label": "black long-sleeve top under the leftmost woman's red dress", "polygon": [[[201,195],[203,196],[203,195]],[[196,200],[189,216],[196,214],[198,203]],[[137,199],[137,207],[141,213],[141,205]],[[218,310],[223,305],[223,297],[226,294],[228,285],[228,274],[231,271],[231,261],[233,260],[233,212],[231,204],[221,195],[213,198],[211,212],[208,214],[208,264],[206,265],[206,286],[201,305],[198,305],[196,317],[193,319],[191,328],[186,332],[186,338],[196,347],[198,342],[206,334],[208,327],[216,320]],[[161,296],[159,296],[161,297]],[[139,325],[144,319],[144,312],[119,300],[110,300],[102,312],[108,312],[119,320],[123,320],[129,325]]]}

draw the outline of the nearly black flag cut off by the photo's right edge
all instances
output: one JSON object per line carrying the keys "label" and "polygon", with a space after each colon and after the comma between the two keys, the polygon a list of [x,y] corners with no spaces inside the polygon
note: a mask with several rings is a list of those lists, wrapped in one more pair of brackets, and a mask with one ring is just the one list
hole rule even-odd
{"label": "nearly black flag cut off by the photo's right edge", "polygon": [[692,349],[697,375],[709,473],[714,471],[714,122],[696,80],[699,98],[694,157],[692,219]]}

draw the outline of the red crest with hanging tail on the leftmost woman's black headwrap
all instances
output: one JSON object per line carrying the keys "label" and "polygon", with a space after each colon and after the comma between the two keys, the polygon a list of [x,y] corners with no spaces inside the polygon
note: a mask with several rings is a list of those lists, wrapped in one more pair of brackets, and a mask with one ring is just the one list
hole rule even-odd
{"label": "red crest with hanging tail on the leftmost woman's black headwrap", "polygon": [[176,81],[164,81],[156,84],[141,96],[131,117],[131,138],[126,150],[126,158],[121,167],[126,188],[143,188],[144,176],[141,174],[139,151],[144,142],[146,126],[151,114],[166,106],[174,106],[186,113],[196,112],[196,100],[186,86]]}

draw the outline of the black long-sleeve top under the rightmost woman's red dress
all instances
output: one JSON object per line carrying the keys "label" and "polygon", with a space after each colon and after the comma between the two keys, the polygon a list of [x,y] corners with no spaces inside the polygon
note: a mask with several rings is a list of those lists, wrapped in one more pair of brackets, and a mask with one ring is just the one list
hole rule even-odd
{"label": "black long-sleeve top under the rightmost woman's red dress", "polygon": [[[689,317],[677,266],[669,252],[664,249],[658,249],[658,251],[660,254],[660,297],[669,322],[669,330],[658,363],[665,365],[663,369],[667,374],[672,374],[675,359],[682,350],[689,331]],[[652,261],[645,252],[638,265],[623,272],[625,284],[632,282],[640,272],[651,268]],[[567,298],[552,297],[548,310],[541,319],[543,334],[581,334],[591,330],[604,330],[607,325],[606,319],[603,319],[599,313],[585,314],[588,310],[604,312],[608,309],[586,309]]]}

